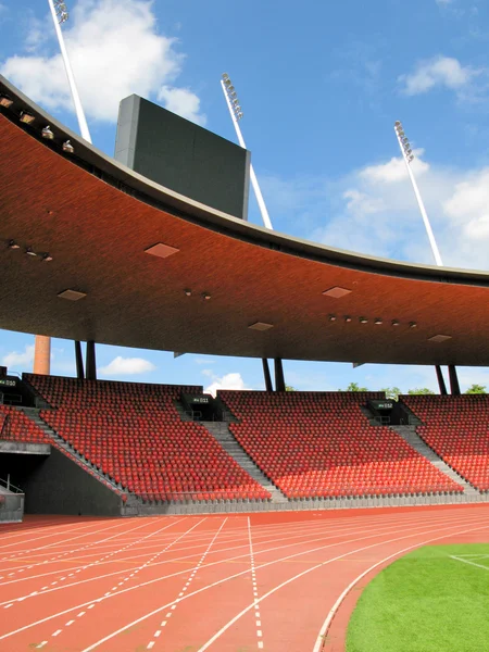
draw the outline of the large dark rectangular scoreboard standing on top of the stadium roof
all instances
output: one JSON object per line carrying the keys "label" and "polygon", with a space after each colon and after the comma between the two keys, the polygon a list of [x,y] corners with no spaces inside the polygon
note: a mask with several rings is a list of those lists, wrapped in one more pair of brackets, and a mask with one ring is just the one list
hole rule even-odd
{"label": "large dark rectangular scoreboard standing on top of the stadium roof", "polygon": [[118,109],[115,160],[147,178],[248,220],[250,152],[133,95]]}

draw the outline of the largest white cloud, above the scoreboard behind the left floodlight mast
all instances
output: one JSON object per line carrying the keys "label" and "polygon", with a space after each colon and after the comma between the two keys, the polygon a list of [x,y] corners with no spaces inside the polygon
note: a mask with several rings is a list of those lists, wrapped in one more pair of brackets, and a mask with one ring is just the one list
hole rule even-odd
{"label": "largest white cloud, above the scoreboard behind the left floodlight mast", "polygon": [[[43,30],[52,30],[46,15]],[[118,102],[137,93],[163,91],[186,116],[201,122],[199,98],[188,89],[168,87],[180,73],[184,57],[176,40],[159,34],[152,3],[145,0],[79,0],[63,25],[70,61],[85,111],[90,118],[115,121]],[[27,55],[10,57],[0,72],[50,111],[72,110],[61,54],[48,54],[39,25],[33,25]]]}

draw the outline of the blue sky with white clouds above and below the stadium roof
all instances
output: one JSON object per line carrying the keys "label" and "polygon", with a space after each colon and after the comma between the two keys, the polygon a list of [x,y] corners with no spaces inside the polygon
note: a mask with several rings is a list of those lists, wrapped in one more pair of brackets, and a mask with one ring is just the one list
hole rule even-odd
{"label": "blue sky with white clouds above and below the stadium roof", "polygon": [[[63,33],[93,143],[113,154],[117,105],[136,92],[236,140],[220,77],[278,231],[432,264],[392,129],[401,120],[443,259],[489,268],[489,9],[481,0],[67,0]],[[47,0],[0,0],[0,72],[77,129]],[[260,222],[254,201],[250,221]],[[1,333],[0,361],[32,368],[33,337]],[[261,362],[98,347],[100,377],[263,387]],[[52,372],[74,374],[53,340]],[[286,361],[298,389],[356,381],[436,387],[427,367]],[[462,388],[489,371],[461,368]]]}

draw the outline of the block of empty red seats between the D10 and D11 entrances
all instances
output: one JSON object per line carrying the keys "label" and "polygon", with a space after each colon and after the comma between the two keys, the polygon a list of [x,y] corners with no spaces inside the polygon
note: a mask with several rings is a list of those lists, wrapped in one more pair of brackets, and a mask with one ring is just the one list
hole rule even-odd
{"label": "block of empty red seats between the D10 and D11 entrances", "polygon": [[53,410],[42,418],[143,500],[267,500],[269,493],[174,400],[201,388],[25,375]]}

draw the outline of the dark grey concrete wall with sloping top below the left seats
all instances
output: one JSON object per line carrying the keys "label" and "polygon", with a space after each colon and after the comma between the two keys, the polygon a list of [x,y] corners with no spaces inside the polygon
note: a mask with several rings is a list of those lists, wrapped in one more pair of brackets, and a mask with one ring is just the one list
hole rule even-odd
{"label": "dark grey concrete wall with sloping top below the left seats", "polygon": [[26,514],[121,516],[121,497],[52,448],[49,456],[0,454],[0,477],[24,490]]}

